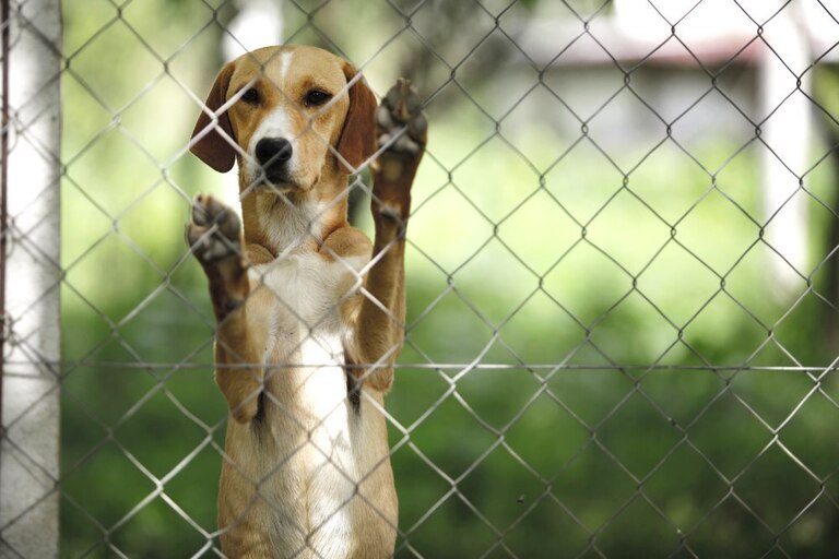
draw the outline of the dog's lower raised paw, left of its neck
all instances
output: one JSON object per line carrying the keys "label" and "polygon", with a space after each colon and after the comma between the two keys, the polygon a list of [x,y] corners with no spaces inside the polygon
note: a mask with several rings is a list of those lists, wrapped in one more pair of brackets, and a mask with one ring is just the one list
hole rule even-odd
{"label": "dog's lower raised paw, left of its neck", "polygon": [[241,223],[236,212],[210,194],[199,194],[192,201],[187,243],[203,266],[241,257],[240,231]]}

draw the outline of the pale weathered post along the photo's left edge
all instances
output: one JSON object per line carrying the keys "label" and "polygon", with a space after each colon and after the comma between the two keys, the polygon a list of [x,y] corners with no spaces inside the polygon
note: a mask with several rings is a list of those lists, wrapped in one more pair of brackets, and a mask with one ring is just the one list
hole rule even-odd
{"label": "pale weathered post along the photo's left edge", "polygon": [[[0,557],[58,556],[59,0],[3,0]],[[8,92],[8,93],[7,93]]]}

